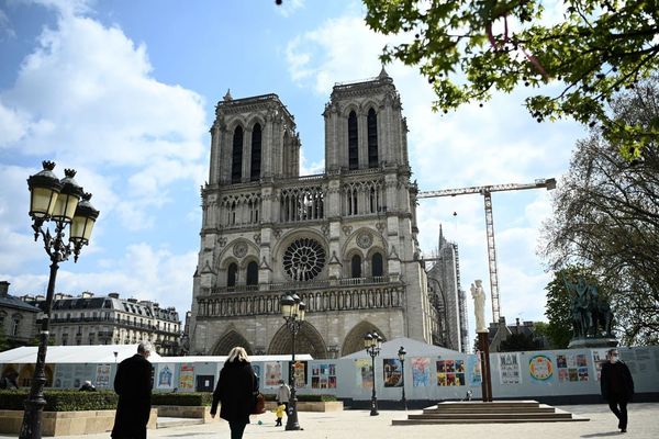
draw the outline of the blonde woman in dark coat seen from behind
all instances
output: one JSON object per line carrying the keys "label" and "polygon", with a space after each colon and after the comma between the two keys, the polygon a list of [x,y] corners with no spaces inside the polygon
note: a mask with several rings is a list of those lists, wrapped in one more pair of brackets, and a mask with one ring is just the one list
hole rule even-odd
{"label": "blonde woman in dark coat seen from behind", "polygon": [[228,421],[231,439],[242,439],[245,427],[249,424],[257,393],[258,379],[252,369],[249,357],[244,348],[236,346],[228,352],[220,371],[211,404],[211,417],[214,418],[220,403],[220,417]]}

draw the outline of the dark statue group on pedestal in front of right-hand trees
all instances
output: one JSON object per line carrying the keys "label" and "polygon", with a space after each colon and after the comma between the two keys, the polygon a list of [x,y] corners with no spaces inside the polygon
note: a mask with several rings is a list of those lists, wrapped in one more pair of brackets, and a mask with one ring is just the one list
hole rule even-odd
{"label": "dark statue group on pedestal in front of right-hand trees", "polygon": [[562,280],[572,297],[572,340],[615,338],[611,305],[597,293],[597,286],[581,277],[577,282],[570,282],[565,275]]}

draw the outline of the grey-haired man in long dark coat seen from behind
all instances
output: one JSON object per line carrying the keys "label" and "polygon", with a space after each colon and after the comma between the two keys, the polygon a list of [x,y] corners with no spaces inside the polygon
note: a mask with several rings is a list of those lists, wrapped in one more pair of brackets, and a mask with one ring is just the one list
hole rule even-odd
{"label": "grey-haired man in long dark coat seen from behind", "polygon": [[137,346],[137,353],[119,363],[114,376],[119,402],[113,439],[146,439],[153,387],[153,368],[147,359],[152,350],[152,344],[143,341]]}

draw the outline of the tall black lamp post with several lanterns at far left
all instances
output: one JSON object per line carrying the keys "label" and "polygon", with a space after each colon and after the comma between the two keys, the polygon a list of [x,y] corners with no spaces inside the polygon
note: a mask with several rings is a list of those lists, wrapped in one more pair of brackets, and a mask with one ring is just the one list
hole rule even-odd
{"label": "tall black lamp post with several lanterns at far left", "polygon": [[[85,193],[82,188],[74,180],[75,170],[65,169],[65,178],[59,180],[53,172],[55,168],[53,161],[43,161],[42,165],[44,169],[27,179],[30,216],[33,222],[34,240],[36,241],[38,236],[42,236],[44,248],[51,258],[51,275],[48,278],[44,316],[41,320],[36,367],[32,376],[30,395],[25,399],[25,413],[20,439],[41,439],[42,437],[42,415],[44,405],[46,405],[44,385],[46,384],[45,364],[49,337],[48,327],[59,262],[67,260],[71,254],[74,255],[74,261],[78,261],[80,249],[89,244],[91,230],[99,216],[99,211],[93,209],[89,202],[91,194]],[[49,228],[45,225],[51,221],[54,223],[54,235],[51,235]],[[67,226],[68,241],[65,241]]]}

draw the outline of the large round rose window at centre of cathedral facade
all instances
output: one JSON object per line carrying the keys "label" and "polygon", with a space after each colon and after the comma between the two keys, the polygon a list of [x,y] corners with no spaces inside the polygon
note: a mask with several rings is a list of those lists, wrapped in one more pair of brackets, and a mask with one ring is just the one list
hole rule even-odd
{"label": "large round rose window at centre of cathedral facade", "polygon": [[309,281],[325,267],[325,250],[315,239],[295,239],[283,254],[283,270],[294,281]]}

